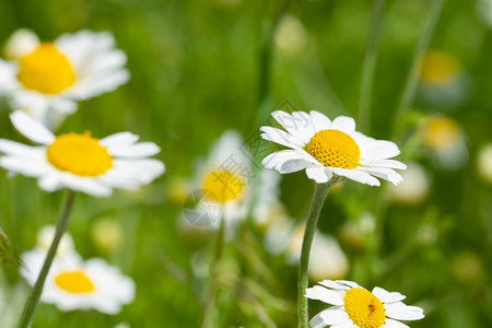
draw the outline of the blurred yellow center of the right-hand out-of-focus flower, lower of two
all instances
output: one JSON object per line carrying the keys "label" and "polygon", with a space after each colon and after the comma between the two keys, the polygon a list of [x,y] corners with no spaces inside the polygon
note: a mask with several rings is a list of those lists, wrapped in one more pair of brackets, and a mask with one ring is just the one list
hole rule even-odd
{"label": "blurred yellow center of the right-hand out-of-focus flower, lower of two", "polygon": [[455,143],[460,136],[456,121],[444,116],[429,118],[420,130],[422,142],[432,149],[442,149]]}

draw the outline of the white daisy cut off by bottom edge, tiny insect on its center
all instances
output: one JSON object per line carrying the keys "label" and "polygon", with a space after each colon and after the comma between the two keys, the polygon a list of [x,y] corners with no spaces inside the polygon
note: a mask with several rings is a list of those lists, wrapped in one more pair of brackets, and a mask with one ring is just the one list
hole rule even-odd
{"label": "white daisy cut off by bottom edge, tiny insect on its center", "polygon": [[423,309],[408,306],[401,301],[406,296],[374,288],[372,292],[355,282],[324,280],[320,285],[306,289],[306,297],[331,306],[311,319],[313,328],[405,328],[397,320],[418,320],[424,317]]}

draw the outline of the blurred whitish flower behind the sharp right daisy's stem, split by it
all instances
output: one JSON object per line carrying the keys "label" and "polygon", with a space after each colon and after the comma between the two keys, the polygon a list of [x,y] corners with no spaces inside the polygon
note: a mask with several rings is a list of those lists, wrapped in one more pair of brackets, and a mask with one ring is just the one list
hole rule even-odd
{"label": "blurred whitish flower behind the sharp right daisy's stem, split by it", "polygon": [[[265,235],[266,249],[273,255],[284,253],[289,265],[297,265],[304,236],[304,224],[293,220],[273,221]],[[341,279],[349,272],[349,261],[337,239],[316,231],[311,248],[308,274],[313,280]]]}

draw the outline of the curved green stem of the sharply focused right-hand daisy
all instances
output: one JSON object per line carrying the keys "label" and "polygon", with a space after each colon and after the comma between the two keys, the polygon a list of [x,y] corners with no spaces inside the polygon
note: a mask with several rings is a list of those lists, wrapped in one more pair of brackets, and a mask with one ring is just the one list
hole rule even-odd
{"label": "curved green stem of the sharply focused right-hand daisy", "polygon": [[313,200],[311,201],[309,213],[307,214],[306,226],[304,230],[303,248],[301,250],[301,261],[298,265],[298,282],[297,282],[297,313],[298,327],[308,327],[307,298],[304,296],[308,284],[307,270],[309,267],[309,253],[313,237],[316,231],[319,213],[325,203],[328,190],[341,179],[333,177],[326,184],[316,184]]}

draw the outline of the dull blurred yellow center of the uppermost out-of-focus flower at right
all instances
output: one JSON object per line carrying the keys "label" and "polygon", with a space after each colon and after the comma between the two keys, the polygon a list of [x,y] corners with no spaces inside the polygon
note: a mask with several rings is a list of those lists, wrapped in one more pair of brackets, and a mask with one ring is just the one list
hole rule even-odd
{"label": "dull blurred yellow center of the uppermost out-of-focus flower at right", "polygon": [[422,56],[420,77],[422,80],[436,84],[445,84],[453,80],[459,71],[456,59],[444,51],[430,51]]}

